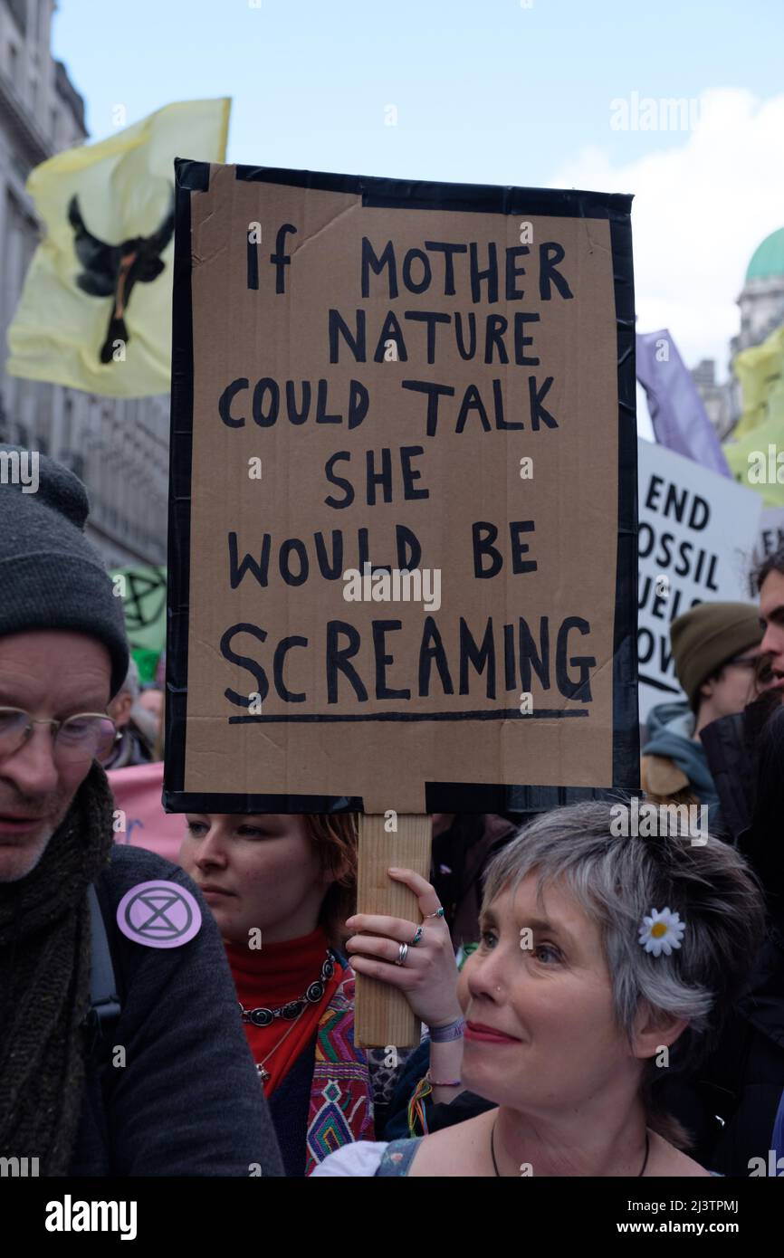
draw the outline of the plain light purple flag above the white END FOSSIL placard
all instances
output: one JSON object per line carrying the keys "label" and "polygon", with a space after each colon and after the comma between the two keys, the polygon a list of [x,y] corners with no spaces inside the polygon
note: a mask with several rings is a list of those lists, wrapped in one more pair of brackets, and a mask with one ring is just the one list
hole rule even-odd
{"label": "plain light purple flag above the white END FOSSIL placard", "polygon": [[659,445],[731,478],[702,398],[666,328],[637,333],[637,379],[646,390]]}

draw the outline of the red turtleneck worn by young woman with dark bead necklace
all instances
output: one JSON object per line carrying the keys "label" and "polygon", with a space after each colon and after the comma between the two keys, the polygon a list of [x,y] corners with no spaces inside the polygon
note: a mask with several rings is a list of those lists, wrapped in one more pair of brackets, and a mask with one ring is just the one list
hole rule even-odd
{"label": "red turtleneck worn by young woman with dark bead necklace", "polygon": [[[238,944],[227,944],[225,949],[237,996],[244,1008],[257,1009],[260,1005],[277,1009],[291,1000],[300,1000],[311,982],[321,977],[321,966],[327,959],[327,937],[318,928],[312,935],[287,940],[284,944],[262,941],[258,951],[240,947]],[[306,1005],[296,1021],[276,1018],[269,1027],[243,1024],[257,1069],[263,1063],[264,1069],[269,1072],[269,1079],[264,1083],[266,1096],[272,1096],[316,1034],[318,1019],[342,976],[342,970],[336,962],[335,974],[325,984],[323,998],[317,1005]]]}

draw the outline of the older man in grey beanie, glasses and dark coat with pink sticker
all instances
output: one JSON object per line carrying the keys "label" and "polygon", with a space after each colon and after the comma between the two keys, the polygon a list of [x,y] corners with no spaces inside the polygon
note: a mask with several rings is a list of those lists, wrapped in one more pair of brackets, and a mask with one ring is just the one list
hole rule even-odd
{"label": "older man in grey beanie, glasses and dark coat with pink sticker", "polygon": [[36,492],[0,484],[0,1157],[279,1175],[213,917],[176,866],[113,843],[98,761],[128,652],[87,513],[48,458]]}

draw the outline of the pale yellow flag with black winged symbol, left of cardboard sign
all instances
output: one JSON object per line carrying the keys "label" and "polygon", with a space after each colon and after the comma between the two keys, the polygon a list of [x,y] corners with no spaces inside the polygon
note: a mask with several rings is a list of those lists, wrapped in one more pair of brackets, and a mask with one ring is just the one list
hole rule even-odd
{"label": "pale yellow flag with black winged symbol, left of cardboard sign", "polygon": [[35,167],[45,238],[9,328],[10,375],[109,398],[169,390],[174,159],[224,161],[230,106],[169,104]]}

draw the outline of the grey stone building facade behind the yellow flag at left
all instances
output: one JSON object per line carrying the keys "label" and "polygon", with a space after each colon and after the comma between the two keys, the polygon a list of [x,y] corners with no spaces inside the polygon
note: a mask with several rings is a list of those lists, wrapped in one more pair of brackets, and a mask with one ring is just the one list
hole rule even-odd
{"label": "grey stone building facade behind the yellow flag at left", "polygon": [[169,396],[125,400],[6,375],[8,327],[39,242],[25,181],[87,138],[84,102],[50,52],[54,0],[0,0],[0,440],[68,464],[107,566],[166,561]]}

